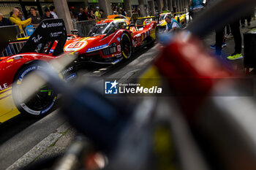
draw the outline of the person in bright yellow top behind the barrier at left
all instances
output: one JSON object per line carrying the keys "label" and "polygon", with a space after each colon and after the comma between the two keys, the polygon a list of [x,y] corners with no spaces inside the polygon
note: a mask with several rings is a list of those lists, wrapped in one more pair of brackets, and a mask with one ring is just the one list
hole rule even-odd
{"label": "person in bright yellow top behind the barrier at left", "polygon": [[31,18],[27,20],[21,20],[18,16],[20,15],[20,10],[17,8],[12,9],[12,16],[9,20],[20,28],[20,37],[24,37],[23,28],[31,23]]}

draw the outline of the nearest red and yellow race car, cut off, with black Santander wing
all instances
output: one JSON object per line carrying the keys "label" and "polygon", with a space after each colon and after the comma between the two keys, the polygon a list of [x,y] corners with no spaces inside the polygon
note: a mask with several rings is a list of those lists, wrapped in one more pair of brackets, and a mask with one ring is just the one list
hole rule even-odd
{"label": "nearest red and yellow race car, cut off, with black Santander wing", "polygon": [[[16,39],[18,34],[17,26],[1,27],[0,51],[7,47],[10,40]],[[53,108],[57,94],[48,85],[39,88],[27,101],[20,101],[23,96],[20,85],[31,72],[42,69],[43,64],[48,64],[48,61],[60,58],[66,39],[67,32],[62,19],[43,20],[20,53],[0,58],[0,123],[19,115],[20,112],[42,115]],[[55,50],[49,54],[51,45],[56,41],[58,44]]]}

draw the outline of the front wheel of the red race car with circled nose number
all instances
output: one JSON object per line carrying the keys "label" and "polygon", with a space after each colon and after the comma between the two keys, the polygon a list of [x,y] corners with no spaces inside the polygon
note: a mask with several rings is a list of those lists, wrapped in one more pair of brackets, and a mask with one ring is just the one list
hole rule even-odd
{"label": "front wheel of the red race car with circled nose number", "polygon": [[121,34],[121,53],[124,58],[129,58],[132,55],[132,42],[126,33]]}

